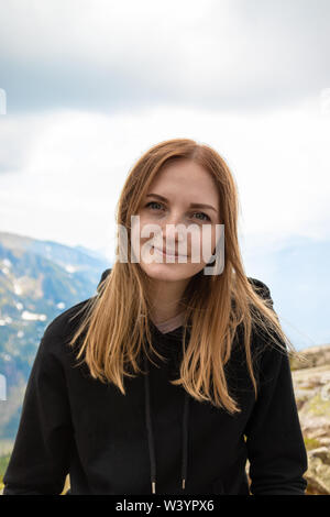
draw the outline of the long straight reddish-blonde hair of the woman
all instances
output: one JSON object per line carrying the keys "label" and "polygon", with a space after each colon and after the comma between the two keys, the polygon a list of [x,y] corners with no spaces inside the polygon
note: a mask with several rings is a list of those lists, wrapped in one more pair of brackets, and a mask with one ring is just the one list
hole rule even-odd
{"label": "long straight reddish-blonde hair of the woman", "polygon": [[[201,271],[193,276],[183,296],[185,352],[179,378],[172,383],[183,385],[195,399],[208,400],[233,414],[241,409],[229,394],[224,366],[238,330],[243,330],[246,366],[255,397],[253,330],[264,331],[265,341],[276,342],[283,350],[294,350],[294,346],[272,308],[268,289],[265,292],[262,286],[251,285],[244,273],[238,240],[238,193],[224,160],[210,146],[188,139],[154,145],[140,157],[124,183],[117,208],[117,224],[128,231],[128,256],[131,256],[131,216],[138,213],[148,185],[162,166],[169,160],[180,158],[201,165],[216,182],[221,222],[226,229],[226,264],[220,275],[204,275]],[[120,239],[119,233],[117,256],[123,244]],[[123,377],[134,377],[142,372],[138,358],[142,350],[148,355],[145,340],[162,358],[152,345],[148,277],[139,263],[117,258],[97,295],[88,300],[86,314],[69,344],[78,343],[78,338],[81,342],[77,359],[86,362],[94,378],[113,383],[123,395]]]}

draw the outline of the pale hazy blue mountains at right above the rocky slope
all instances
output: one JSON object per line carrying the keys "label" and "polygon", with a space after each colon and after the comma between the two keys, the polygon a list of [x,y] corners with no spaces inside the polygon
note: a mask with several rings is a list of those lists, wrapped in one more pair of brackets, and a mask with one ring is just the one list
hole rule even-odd
{"label": "pale hazy blue mountains at right above the rocky slope", "polygon": [[248,276],[271,289],[274,309],[297,350],[330,343],[330,241],[294,237],[280,245],[250,245]]}

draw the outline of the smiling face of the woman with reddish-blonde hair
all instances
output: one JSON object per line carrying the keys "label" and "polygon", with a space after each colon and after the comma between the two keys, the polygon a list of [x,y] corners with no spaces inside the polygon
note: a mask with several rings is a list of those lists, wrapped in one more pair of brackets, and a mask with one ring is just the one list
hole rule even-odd
{"label": "smiling face of the woman with reddish-blonde hair", "polygon": [[[197,204],[200,206],[194,206]],[[165,165],[151,184],[138,216],[132,246],[141,267],[154,279],[189,278],[216,251],[219,194],[211,175],[195,162]]]}

